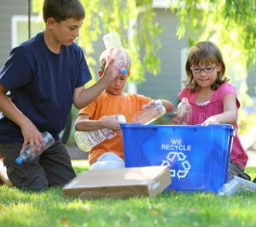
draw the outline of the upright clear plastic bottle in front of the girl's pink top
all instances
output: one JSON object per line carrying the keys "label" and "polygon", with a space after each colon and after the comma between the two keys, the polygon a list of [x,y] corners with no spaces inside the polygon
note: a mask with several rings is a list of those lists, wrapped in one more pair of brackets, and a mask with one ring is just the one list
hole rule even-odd
{"label": "upright clear plastic bottle in front of the girl's pink top", "polygon": [[183,98],[177,105],[177,122],[181,125],[189,125],[192,123],[192,106],[187,98]]}

